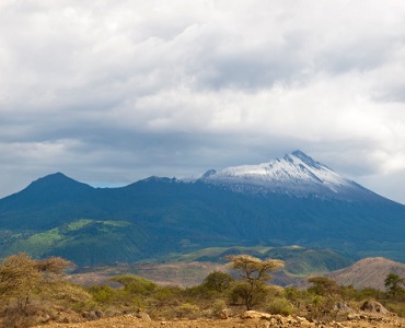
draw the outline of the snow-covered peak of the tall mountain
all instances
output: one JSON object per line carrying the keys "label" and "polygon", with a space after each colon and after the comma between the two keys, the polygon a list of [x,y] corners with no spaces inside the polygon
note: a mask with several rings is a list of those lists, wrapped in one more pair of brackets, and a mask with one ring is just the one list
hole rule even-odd
{"label": "snow-covered peak of the tall mountain", "polygon": [[210,169],[198,180],[233,191],[296,197],[352,199],[364,192],[373,194],[301,151],[258,165],[233,166],[219,172]]}

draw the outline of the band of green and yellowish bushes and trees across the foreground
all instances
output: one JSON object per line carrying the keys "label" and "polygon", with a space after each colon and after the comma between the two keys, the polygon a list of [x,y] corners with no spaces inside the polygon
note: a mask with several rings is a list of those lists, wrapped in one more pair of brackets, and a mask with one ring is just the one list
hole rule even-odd
{"label": "band of green and yellowish bushes and trees across the foreground", "polygon": [[[305,290],[267,283],[280,260],[252,256],[228,257],[238,278],[215,271],[192,288],[162,286],[130,274],[114,277],[112,285],[83,288],[63,280],[72,263],[61,258],[33,260],[13,255],[0,265],[2,327],[30,327],[48,321],[79,321],[121,314],[152,319],[223,318],[255,309],[311,320],[339,320],[360,309],[387,309],[405,316],[405,281],[390,273],[386,291],[355,290],[324,277],[309,279]],[[115,285],[114,285],[115,284]]]}

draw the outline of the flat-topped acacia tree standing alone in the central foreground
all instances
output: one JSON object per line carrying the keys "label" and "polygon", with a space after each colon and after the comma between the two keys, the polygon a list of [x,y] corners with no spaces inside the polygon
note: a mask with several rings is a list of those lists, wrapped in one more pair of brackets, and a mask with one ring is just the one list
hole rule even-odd
{"label": "flat-topped acacia tree standing alone in the central foreground", "polygon": [[252,309],[255,293],[263,290],[263,285],[271,278],[270,272],[285,266],[282,260],[261,260],[250,255],[230,255],[225,258],[230,260],[229,266],[232,269],[241,271],[240,277],[244,281],[244,285],[239,288],[246,309]]}

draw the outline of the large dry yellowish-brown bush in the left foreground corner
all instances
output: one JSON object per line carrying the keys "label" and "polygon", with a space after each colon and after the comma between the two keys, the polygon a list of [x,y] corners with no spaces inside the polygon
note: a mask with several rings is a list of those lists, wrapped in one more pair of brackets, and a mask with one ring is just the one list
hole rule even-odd
{"label": "large dry yellowish-brown bush in the left foreground corner", "polygon": [[55,306],[82,311],[91,295],[81,286],[60,280],[71,262],[58,257],[33,260],[21,253],[0,265],[0,311],[3,326],[28,327],[49,317]]}

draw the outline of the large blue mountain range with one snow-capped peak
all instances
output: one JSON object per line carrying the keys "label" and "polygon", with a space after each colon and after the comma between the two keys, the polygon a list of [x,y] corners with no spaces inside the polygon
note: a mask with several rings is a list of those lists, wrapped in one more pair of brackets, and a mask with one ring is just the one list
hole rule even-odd
{"label": "large blue mountain range with one snow-capped peak", "polygon": [[120,188],[57,173],[0,199],[0,256],[26,250],[81,266],[256,245],[405,262],[404,232],[404,206],[300,151],[194,180],[149,177]]}

